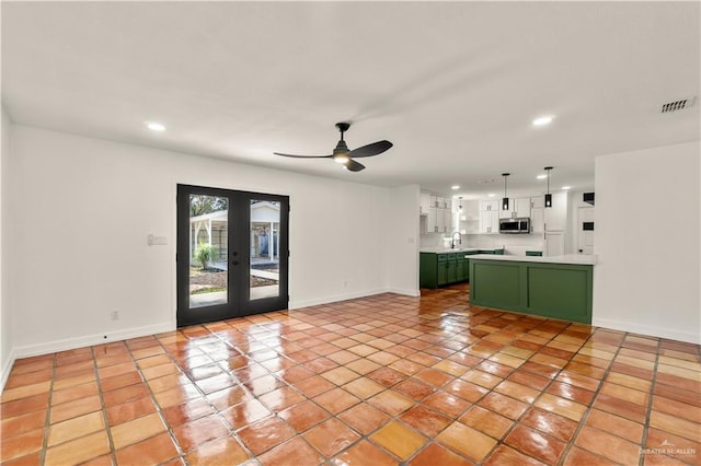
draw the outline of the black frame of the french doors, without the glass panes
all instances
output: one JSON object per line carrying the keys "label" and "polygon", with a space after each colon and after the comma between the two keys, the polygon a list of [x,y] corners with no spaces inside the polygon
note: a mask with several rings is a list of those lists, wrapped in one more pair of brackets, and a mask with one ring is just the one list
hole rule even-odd
{"label": "black frame of the french doors, without the glass panes", "polygon": [[[289,196],[217,188],[177,183],[175,214],[175,325],[188,325],[280,311],[289,303]],[[189,202],[191,195],[227,197],[228,206],[228,276],[227,303],[198,307],[193,317],[189,307]],[[250,299],[250,224],[251,199],[280,203],[278,294]],[[183,234],[183,232],[187,232]],[[185,237],[184,237],[185,236]],[[182,260],[186,263],[182,263]],[[234,265],[234,263],[238,263]]]}

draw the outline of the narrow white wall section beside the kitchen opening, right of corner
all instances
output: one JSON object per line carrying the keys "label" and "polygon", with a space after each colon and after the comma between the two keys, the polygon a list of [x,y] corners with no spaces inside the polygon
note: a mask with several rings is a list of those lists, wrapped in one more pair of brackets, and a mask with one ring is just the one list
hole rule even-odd
{"label": "narrow white wall section beside the kitchen opening, right of corner", "polygon": [[420,186],[400,186],[390,190],[387,267],[390,291],[418,296],[418,202]]}

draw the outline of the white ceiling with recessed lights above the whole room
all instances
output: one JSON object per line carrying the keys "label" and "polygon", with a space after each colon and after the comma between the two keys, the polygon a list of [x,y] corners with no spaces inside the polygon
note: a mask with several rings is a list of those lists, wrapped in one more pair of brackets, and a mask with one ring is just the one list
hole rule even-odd
{"label": "white ceiling with recessed lights above the whole room", "polygon": [[[360,183],[502,196],[510,172],[516,195],[553,165],[553,190],[584,189],[596,155],[699,139],[698,100],[658,108],[701,94],[699,7],[2,1],[2,102],[20,124]],[[273,155],[331,153],[337,121],[352,149],[394,148],[360,173]]]}

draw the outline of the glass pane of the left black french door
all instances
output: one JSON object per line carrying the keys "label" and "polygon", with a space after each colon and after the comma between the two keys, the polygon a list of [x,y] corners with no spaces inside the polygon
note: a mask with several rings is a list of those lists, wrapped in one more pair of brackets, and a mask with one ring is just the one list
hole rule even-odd
{"label": "glass pane of the left black french door", "polygon": [[189,307],[228,301],[229,200],[189,195]]}

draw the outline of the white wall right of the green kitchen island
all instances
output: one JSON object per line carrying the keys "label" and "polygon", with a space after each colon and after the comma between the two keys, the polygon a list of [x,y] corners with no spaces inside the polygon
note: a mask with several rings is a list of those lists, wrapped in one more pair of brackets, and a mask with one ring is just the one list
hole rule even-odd
{"label": "white wall right of the green kitchen island", "polygon": [[596,159],[594,325],[701,343],[699,141]]}

